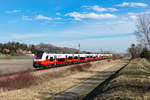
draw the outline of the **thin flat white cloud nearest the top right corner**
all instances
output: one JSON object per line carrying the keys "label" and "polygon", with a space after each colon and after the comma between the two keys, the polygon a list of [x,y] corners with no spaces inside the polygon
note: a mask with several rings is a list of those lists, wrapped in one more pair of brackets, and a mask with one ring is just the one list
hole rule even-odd
{"label": "thin flat white cloud nearest the top right corner", "polygon": [[136,2],[123,2],[122,4],[118,4],[117,6],[121,6],[121,7],[124,7],[124,6],[129,6],[129,7],[147,7],[148,5],[145,4],[145,3],[136,3]]}

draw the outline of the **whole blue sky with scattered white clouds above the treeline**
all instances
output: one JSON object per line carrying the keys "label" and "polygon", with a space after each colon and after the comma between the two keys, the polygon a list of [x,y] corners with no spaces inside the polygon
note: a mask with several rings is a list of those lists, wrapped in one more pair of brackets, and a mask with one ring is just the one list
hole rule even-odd
{"label": "whole blue sky with scattered white clouds above the treeline", "polygon": [[126,52],[149,0],[0,0],[0,42]]}

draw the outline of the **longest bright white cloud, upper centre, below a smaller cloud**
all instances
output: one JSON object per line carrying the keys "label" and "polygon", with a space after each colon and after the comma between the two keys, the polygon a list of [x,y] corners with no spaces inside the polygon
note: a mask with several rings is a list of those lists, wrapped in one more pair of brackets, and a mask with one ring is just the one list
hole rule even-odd
{"label": "longest bright white cloud, upper centre, below a smaller cloud", "polygon": [[116,18],[116,15],[107,13],[107,14],[96,14],[94,12],[91,13],[79,13],[79,12],[71,12],[66,14],[65,16],[74,17],[75,20],[80,20],[83,18],[90,18],[90,19],[109,19],[109,18]]}

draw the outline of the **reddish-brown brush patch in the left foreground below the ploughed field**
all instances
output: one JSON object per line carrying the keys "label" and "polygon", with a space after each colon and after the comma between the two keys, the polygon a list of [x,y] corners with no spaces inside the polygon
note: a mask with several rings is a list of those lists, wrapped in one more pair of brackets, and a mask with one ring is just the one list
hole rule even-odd
{"label": "reddish-brown brush patch in the left foreground below the ploughed field", "polygon": [[0,77],[0,88],[5,90],[26,88],[35,85],[37,80],[38,77],[36,77],[31,71],[20,72]]}

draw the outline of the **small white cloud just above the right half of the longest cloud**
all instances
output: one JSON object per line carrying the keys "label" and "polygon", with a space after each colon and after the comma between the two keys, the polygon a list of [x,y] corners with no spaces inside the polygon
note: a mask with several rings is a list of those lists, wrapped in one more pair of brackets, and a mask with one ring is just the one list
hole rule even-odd
{"label": "small white cloud just above the right half of the longest cloud", "polygon": [[114,12],[114,11],[118,11],[118,9],[116,9],[116,8],[102,8],[102,7],[99,7],[98,5],[91,6],[91,8],[93,10],[95,10],[95,11],[98,11],[98,12],[104,12],[104,11]]}

